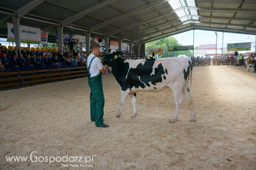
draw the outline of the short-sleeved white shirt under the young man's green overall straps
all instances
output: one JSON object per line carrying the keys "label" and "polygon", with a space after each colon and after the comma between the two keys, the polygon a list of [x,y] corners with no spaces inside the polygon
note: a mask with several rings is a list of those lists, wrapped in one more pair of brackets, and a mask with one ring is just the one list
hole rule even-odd
{"label": "short-sleeved white shirt under the young man's green overall straps", "polygon": [[[92,60],[92,58],[95,57],[95,55],[93,54],[90,54],[88,56],[88,59],[87,59],[87,68],[89,67],[90,65],[90,62]],[[89,69],[89,72],[90,72],[90,77],[95,77],[95,76],[98,76],[100,74],[100,70],[103,69],[103,65],[100,61],[100,59],[98,57],[95,57],[93,60],[92,60],[92,63],[91,63],[91,67]]]}

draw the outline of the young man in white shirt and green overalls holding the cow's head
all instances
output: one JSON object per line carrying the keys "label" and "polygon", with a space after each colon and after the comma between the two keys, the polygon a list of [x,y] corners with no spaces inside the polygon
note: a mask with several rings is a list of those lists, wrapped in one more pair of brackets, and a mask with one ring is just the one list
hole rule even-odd
{"label": "young man in white shirt and green overalls holding the cow's head", "polygon": [[97,127],[107,128],[108,125],[103,122],[104,114],[104,94],[102,88],[101,73],[105,73],[108,65],[104,67],[100,59],[96,56],[100,53],[100,45],[98,43],[92,43],[91,54],[87,60],[87,73],[88,84],[91,90],[90,93],[90,113],[91,121],[95,121]]}

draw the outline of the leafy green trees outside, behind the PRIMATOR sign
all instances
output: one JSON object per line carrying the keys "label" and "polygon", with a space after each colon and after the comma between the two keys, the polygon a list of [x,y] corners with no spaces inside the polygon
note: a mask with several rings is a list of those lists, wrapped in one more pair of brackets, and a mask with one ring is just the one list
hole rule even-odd
{"label": "leafy green trees outside, behind the PRIMATOR sign", "polygon": [[[172,46],[182,46],[182,44],[179,44],[179,42],[174,38],[174,37],[168,37],[168,41],[169,41],[169,47]],[[165,48],[165,54],[160,54],[158,55],[159,58],[162,57],[167,57],[168,53],[169,53],[169,57],[174,57],[174,56],[178,56],[178,55],[187,55],[187,56],[192,56],[193,55],[193,51],[189,50],[189,51],[169,51],[168,52],[168,41],[167,41],[167,37],[166,38],[162,38],[156,41],[151,41],[145,44],[145,54],[148,53],[148,48],[157,48],[157,47],[164,47]]]}

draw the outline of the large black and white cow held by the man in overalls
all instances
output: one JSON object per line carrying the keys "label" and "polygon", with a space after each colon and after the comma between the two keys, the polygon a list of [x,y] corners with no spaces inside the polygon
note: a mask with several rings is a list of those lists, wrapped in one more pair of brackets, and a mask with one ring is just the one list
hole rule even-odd
{"label": "large black and white cow held by the man in overalls", "polygon": [[[172,89],[175,100],[175,114],[168,121],[174,123],[179,115],[182,94],[190,108],[191,120],[195,121],[192,100],[192,61],[187,57],[171,57],[158,59],[125,60],[116,57],[119,52],[108,54],[103,62],[108,64],[121,89],[121,103],[116,117],[120,117],[127,95],[131,95],[133,114],[136,112],[136,92],[161,92]],[[188,80],[190,73],[190,87]]]}

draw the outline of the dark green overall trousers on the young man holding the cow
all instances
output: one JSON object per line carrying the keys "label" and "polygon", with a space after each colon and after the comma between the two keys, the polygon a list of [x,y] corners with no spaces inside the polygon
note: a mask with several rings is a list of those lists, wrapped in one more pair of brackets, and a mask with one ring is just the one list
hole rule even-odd
{"label": "dark green overall trousers on the young man holding the cow", "polygon": [[90,93],[90,112],[91,121],[95,121],[96,126],[103,125],[104,114],[104,94],[101,81],[101,73],[92,78],[88,78],[88,84],[91,90]]}

